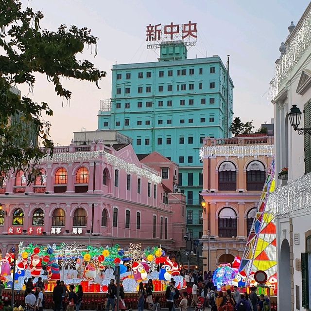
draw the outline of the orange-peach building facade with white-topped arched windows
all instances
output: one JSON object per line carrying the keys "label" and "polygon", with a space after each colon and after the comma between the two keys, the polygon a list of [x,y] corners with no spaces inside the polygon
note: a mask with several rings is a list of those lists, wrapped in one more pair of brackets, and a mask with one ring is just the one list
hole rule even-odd
{"label": "orange-peach building facade with white-topped arched windows", "polygon": [[272,136],[204,139],[203,257],[208,270],[242,257],[273,159]]}

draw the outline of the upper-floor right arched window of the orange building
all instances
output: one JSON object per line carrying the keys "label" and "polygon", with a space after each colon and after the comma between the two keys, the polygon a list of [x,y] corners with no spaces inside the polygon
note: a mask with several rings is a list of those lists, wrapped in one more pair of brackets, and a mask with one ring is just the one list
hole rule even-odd
{"label": "upper-floor right arched window of the orange building", "polygon": [[259,161],[253,161],[246,168],[247,191],[262,191],[266,180],[264,165]]}

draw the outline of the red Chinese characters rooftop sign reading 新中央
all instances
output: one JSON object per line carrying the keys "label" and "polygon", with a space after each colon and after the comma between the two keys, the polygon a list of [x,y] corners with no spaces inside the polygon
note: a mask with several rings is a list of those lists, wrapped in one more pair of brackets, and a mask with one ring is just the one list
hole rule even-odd
{"label": "red Chinese characters rooftop sign reading \u65b0\u4e2d\u592e", "polygon": [[197,38],[196,23],[151,25],[147,26],[146,41],[148,48],[157,48],[162,42],[183,41],[186,46],[195,44]]}

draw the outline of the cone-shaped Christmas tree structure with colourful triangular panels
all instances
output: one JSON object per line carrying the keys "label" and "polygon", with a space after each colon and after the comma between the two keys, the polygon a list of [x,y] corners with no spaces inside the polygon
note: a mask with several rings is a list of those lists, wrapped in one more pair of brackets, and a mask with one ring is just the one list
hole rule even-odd
{"label": "cone-shaped Christmas tree structure with colourful triangular panels", "polygon": [[274,173],[273,159],[241,259],[239,272],[243,271],[248,279],[258,270],[265,271],[268,280],[272,276],[276,278],[276,224],[267,204],[269,194],[275,189]]}

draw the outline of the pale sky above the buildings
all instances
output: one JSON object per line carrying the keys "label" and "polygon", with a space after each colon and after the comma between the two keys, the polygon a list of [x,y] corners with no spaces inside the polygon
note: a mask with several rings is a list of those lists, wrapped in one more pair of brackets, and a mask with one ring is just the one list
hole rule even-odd
{"label": "pale sky above the buildings", "polygon": [[[156,61],[158,55],[146,46],[146,25],[197,23],[198,39],[188,58],[230,55],[230,76],[234,83],[233,111],[242,122],[254,120],[255,128],[273,118],[269,82],[274,75],[279,46],[296,25],[307,0],[22,0],[44,14],[41,28],[57,30],[60,24],[88,27],[99,38],[98,54],[85,50],[79,58],[88,59],[107,76],[100,89],[90,82],[63,79],[72,91],[63,102],[45,76],[36,75],[37,102],[48,102],[54,115],[54,144],[69,145],[73,131],[96,130],[100,100],[111,96],[112,65]],[[23,94],[26,86],[18,86]],[[63,104],[63,105],[62,105]]]}

